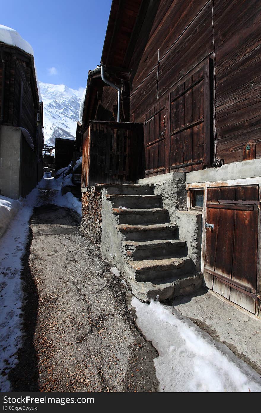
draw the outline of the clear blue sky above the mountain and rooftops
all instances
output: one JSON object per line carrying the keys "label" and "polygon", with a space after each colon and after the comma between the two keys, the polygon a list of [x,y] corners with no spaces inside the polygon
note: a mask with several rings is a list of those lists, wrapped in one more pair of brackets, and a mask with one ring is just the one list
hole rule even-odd
{"label": "clear blue sky above the mountain and rooftops", "polygon": [[40,81],[86,86],[101,60],[111,0],[7,0],[0,9],[0,24],[33,47]]}

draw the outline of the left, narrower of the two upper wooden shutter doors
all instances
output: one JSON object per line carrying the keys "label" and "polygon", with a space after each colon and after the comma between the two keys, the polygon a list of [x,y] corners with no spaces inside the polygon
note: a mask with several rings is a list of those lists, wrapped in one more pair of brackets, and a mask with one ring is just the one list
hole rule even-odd
{"label": "left, narrower of the two upper wooden shutter doors", "polygon": [[169,172],[169,96],[146,114],[145,152],[147,177]]}

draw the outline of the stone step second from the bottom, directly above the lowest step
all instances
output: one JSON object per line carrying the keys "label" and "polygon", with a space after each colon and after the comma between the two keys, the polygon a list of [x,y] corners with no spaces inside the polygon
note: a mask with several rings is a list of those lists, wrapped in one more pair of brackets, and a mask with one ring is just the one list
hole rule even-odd
{"label": "stone step second from the bottom, directly above the lowest step", "polygon": [[156,260],[128,261],[134,270],[136,281],[166,280],[182,277],[193,270],[192,259],[188,256]]}

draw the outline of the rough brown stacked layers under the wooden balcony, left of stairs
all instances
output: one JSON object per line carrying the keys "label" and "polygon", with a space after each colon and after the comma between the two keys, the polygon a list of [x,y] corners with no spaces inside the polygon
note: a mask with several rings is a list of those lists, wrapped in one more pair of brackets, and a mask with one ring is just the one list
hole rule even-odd
{"label": "rough brown stacked layers under the wooden balcony, left of stairs", "polygon": [[101,245],[101,190],[89,187],[82,193],[82,230],[96,245]]}

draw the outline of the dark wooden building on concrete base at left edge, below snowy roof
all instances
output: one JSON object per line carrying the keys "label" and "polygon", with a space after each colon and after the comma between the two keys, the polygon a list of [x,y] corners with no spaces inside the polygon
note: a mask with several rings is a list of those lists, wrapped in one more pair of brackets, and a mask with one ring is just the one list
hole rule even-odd
{"label": "dark wooden building on concrete base at left edge, below snowy roof", "polygon": [[43,108],[33,55],[0,42],[0,193],[26,196],[42,178]]}

